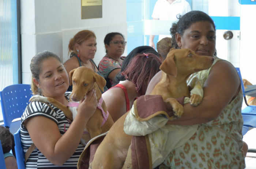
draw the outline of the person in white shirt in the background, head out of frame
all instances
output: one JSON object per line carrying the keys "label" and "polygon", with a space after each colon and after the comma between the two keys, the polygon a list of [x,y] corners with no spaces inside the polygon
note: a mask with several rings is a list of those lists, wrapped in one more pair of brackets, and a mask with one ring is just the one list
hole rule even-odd
{"label": "person in white shirt in the background, head out of frame", "polygon": [[[191,11],[191,7],[186,0],[158,0],[155,3],[153,10],[153,20],[173,20],[177,21],[177,15],[181,16],[187,12]],[[171,27],[171,25],[170,25]],[[159,40],[165,37],[172,37],[171,35],[159,35]],[[155,49],[155,44],[153,42],[155,35],[150,35],[149,46]]]}

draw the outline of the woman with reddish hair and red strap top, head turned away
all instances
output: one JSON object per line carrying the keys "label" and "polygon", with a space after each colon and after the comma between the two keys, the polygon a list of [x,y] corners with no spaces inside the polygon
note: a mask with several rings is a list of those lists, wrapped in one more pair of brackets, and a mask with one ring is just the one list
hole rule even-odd
{"label": "woman with reddish hair and red strap top, head turned away", "polygon": [[131,109],[134,99],[146,93],[161,63],[157,51],[150,46],[136,47],[127,55],[115,80],[124,82],[102,94],[114,122]]}

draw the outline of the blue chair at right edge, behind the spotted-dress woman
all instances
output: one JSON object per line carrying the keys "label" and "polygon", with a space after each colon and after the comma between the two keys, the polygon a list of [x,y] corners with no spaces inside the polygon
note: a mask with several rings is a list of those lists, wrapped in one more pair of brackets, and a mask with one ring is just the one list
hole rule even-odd
{"label": "blue chair at right edge, behind the spotted-dress woman", "polygon": [[[236,67],[237,73],[240,77],[241,87],[243,91],[244,101],[247,107],[245,107],[241,113],[244,119],[244,126],[242,128],[242,135],[245,135],[249,130],[249,127],[255,128],[256,127],[256,106],[249,106],[245,97],[245,89],[244,89],[244,82],[242,80],[242,75],[239,67]],[[256,153],[256,149],[248,149],[249,153]]]}

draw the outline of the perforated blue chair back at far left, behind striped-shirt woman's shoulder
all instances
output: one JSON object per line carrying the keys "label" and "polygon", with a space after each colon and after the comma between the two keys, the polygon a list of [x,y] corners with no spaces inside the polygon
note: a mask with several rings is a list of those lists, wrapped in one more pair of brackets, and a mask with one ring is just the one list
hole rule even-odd
{"label": "perforated blue chair back at far left, behind striped-shirt woman's shoulder", "polygon": [[29,84],[14,84],[0,91],[4,126],[10,128],[12,120],[20,118],[31,98]]}

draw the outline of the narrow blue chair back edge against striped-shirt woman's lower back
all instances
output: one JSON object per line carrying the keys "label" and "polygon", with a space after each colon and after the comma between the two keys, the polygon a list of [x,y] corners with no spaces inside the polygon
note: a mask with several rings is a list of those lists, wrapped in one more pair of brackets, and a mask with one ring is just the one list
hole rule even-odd
{"label": "narrow blue chair back edge against striped-shirt woman's lower back", "polygon": [[26,169],[25,162],[24,162],[25,154],[24,154],[23,145],[20,139],[20,128],[14,134],[14,141],[15,141],[15,153],[16,153],[18,169]]}

